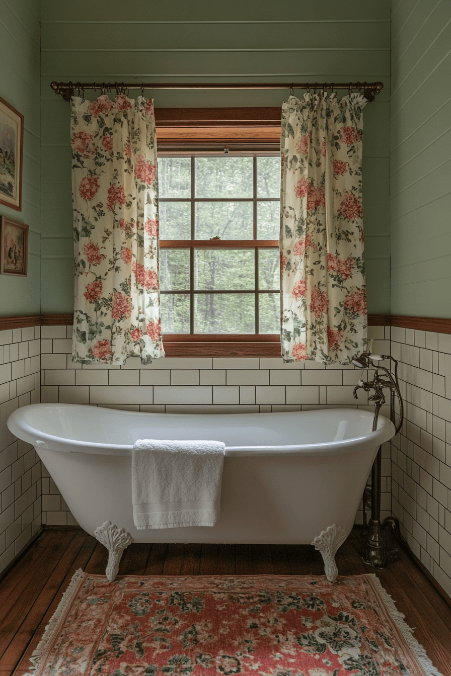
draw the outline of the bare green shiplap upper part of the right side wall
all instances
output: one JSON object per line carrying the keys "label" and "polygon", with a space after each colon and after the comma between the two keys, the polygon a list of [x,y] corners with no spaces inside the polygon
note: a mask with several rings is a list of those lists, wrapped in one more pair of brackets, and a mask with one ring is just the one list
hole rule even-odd
{"label": "bare green shiplap upper part of the right side wall", "polygon": [[451,317],[451,3],[394,0],[391,312]]}

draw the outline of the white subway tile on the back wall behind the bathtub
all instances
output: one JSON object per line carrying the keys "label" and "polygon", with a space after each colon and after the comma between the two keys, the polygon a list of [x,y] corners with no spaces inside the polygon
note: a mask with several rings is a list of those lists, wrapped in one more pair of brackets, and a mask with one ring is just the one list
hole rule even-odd
{"label": "white subway tile on the back wall behind the bathtub", "polygon": [[[149,366],[128,359],[124,366],[81,366],[70,355],[72,327],[43,327],[43,402],[82,403],[141,412],[254,413],[356,406],[373,410],[354,387],[368,372],[281,358],[165,358]],[[53,329],[55,329],[53,331]],[[371,327],[373,351],[387,350],[389,328]],[[66,346],[66,347],[65,347]],[[64,353],[64,349],[66,353]],[[66,361],[64,361],[66,360]],[[385,410],[385,414],[387,411]],[[391,515],[390,448],[383,447],[382,516]],[[45,468],[43,477],[48,479]],[[43,523],[74,523],[55,484],[43,479]],[[58,502],[58,498],[61,503]],[[60,505],[60,506],[59,506]],[[362,508],[357,522],[362,523]],[[66,521],[65,521],[66,518]]]}

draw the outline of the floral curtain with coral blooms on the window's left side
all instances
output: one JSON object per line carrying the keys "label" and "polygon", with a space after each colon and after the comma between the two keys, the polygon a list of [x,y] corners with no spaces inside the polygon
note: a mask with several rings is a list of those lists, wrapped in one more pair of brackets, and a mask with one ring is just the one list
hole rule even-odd
{"label": "floral curtain with coral blooms on the window's left side", "polygon": [[164,357],[153,101],[72,98],[72,361]]}

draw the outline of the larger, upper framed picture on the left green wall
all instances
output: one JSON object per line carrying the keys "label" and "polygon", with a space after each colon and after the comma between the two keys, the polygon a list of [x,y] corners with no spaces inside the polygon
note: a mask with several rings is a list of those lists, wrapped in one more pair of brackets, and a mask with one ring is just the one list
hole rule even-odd
{"label": "larger, upper framed picture on the left green wall", "polygon": [[0,98],[0,203],[22,211],[24,116]]}

